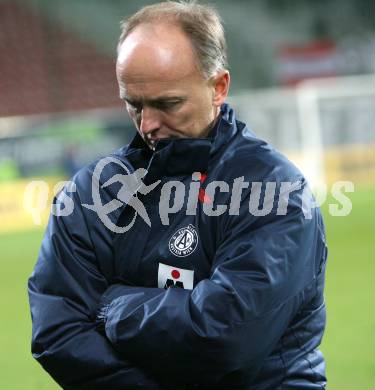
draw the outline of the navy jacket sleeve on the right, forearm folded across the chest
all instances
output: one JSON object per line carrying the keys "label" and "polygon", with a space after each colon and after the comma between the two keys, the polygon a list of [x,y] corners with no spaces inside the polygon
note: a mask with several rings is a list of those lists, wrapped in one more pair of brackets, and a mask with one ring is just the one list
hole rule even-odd
{"label": "navy jacket sleeve on the right, forearm folded across the chest", "polygon": [[317,294],[323,226],[319,210],[308,219],[301,205],[300,191],[286,215],[254,218],[244,202],[228,219],[210,278],[192,291],[111,286],[102,301],[114,347],[166,377],[248,382]]}

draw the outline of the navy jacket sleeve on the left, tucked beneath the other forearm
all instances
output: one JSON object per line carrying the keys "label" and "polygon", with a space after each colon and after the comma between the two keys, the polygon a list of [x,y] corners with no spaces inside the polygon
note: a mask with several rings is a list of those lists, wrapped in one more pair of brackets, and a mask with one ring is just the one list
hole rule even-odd
{"label": "navy jacket sleeve on the left, tucked beneath the other forearm", "polygon": [[75,196],[71,216],[51,216],[29,279],[33,357],[65,389],[159,389],[96,329],[108,284]]}

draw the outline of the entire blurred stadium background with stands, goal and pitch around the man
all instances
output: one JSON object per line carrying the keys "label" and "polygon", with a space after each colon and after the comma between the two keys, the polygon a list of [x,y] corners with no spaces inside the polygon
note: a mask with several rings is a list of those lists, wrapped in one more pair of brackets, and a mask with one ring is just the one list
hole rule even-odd
{"label": "entire blurred stadium background with stands, goal and pitch around the man", "polygon": [[[26,281],[53,186],[126,143],[119,22],[152,1],[0,0],[0,388],[55,389],[32,360]],[[225,21],[231,103],[316,191],[329,243],[329,389],[375,388],[375,2],[210,1]],[[48,199],[31,180],[45,180]],[[328,212],[336,181],[352,211]],[[44,207],[40,220],[30,210]],[[336,200],[337,203],[337,200]]]}

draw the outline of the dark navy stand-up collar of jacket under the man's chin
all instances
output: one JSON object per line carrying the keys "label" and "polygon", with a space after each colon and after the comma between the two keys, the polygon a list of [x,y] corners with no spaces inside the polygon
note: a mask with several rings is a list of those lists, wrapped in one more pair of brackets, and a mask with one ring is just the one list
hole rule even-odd
{"label": "dark navy stand-up collar of jacket under the man's chin", "polygon": [[217,124],[207,138],[162,139],[151,151],[137,133],[122,156],[134,166],[146,167],[149,175],[174,176],[192,172],[207,172],[208,164],[236,134],[237,126],[232,108],[221,106]]}

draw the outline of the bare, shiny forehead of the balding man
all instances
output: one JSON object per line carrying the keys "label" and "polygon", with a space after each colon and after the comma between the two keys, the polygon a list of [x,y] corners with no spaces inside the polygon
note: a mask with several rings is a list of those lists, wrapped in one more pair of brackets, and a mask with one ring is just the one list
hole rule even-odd
{"label": "bare, shiny forehead of the balding man", "polygon": [[175,83],[198,72],[189,38],[175,24],[141,24],[119,48],[117,78],[122,84]]}

